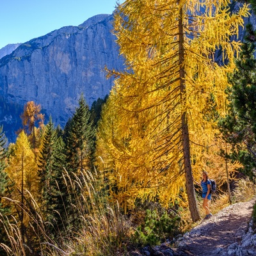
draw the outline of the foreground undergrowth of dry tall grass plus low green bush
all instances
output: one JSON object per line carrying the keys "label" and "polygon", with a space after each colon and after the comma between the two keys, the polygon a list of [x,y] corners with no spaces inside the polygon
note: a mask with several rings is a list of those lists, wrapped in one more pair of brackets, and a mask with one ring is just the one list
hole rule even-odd
{"label": "foreground undergrowth of dry tall grass plus low green bush", "polygon": [[[181,230],[182,222],[175,211],[167,211],[157,204],[144,211],[140,209],[141,217],[136,223],[136,214],[124,214],[117,202],[111,203],[109,188],[102,182],[102,177],[96,171],[90,173],[83,171],[77,180],[72,180],[65,172],[65,180],[72,182],[72,187],[83,188],[83,195],[76,198],[78,209],[79,227],[69,230],[69,227],[56,227],[54,223],[45,221],[40,211],[40,205],[29,194],[29,201],[33,209],[24,207],[29,232],[33,232],[35,244],[31,244],[26,237],[22,237],[19,218],[12,216],[8,219],[0,217],[4,225],[8,243],[0,243],[6,255],[51,255],[51,256],[117,256],[128,255],[127,251],[134,246],[146,244],[159,244],[165,239],[170,239]],[[79,180],[78,180],[79,179]],[[10,200],[15,207],[20,207],[20,202]],[[137,209],[138,210],[138,209]],[[65,216],[60,216],[65,218]],[[132,222],[134,221],[134,222]],[[58,232],[56,236],[47,232],[47,227]],[[76,231],[75,231],[76,230]]]}

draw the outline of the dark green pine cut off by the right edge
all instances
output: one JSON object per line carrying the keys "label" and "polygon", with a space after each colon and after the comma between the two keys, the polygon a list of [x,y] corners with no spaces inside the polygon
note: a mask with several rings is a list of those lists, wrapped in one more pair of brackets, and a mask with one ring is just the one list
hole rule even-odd
{"label": "dark green pine cut off by the right edge", "polygon": [[228,115],[221,119],[220,127],[225,140],[233,145],[230,157],[243,163],[242,172],[255,177],[256,167],[256,31],[246,26],[244,44],[236,60],[236,69],[230,73],[230,100]]}

